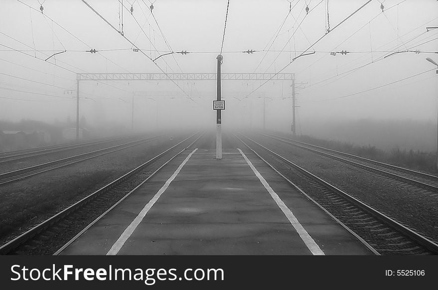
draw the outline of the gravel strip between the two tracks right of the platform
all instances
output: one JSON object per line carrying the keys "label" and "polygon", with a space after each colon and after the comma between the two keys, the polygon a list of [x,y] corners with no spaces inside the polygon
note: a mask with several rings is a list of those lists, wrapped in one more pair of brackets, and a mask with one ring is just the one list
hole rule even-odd
{"label": "gravel strip between the two tracks right of the platform", "polygon": [[390,178],[376,178],[316,153],[253,135],[251,138],[379,211],[438,240],[438,198]]}

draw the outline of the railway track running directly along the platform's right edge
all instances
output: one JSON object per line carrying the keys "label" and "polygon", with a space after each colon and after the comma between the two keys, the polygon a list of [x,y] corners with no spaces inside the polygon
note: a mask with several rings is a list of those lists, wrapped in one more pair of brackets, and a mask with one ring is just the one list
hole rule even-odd
{"label": "railway track running directly along the platform's right edge", "polygon": [[251,147],[239,138],[245,146],[346,229],[360,237],[376,254],[438,254],[438,244],[430,238],[337,189],[249,137],[242,136],[254,144]]}

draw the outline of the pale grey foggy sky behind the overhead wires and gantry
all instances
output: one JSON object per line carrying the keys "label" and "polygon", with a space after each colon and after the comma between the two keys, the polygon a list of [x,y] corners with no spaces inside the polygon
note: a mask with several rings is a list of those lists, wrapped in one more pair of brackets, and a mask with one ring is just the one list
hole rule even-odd
{"label": "pale grey foggy sky behind the overhead wires and gantry", "polygon": [[[123,10],[123,35],[140,51],[81,0],[2,0],[0,119],[9,125],[0,130],[21,120],[75,127],[76,73],[216,73],[226,0],[155,0],[153,15],[147,0],[86,2],[116,29]],[[366,1],[310,1],[308,15],[306,2],[292,0],[288,14],[286,0],[230,0],[222,73],[294,73],[299,134],[433,151],[438,82],[426,58],[438,62],[438,29],[426,27],[437,26],[438,2],[373,0],[339,26]],[[292,61],[306,50],[315,53]],[[188,53],[159,57],[169,51]],[[223,129],[290,131],[291,85],[222,80]],[[216,89],[214,80],[81,81],[81,126],[129,131],[133,117],[136,131],[213,128]]]}

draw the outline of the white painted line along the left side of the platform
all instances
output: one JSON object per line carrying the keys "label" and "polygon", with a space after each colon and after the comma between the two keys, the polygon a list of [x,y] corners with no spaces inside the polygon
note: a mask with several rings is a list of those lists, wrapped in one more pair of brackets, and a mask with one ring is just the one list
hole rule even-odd
{"label": "white painted line along the left side of the platform", "polygon": [[109,249],[107,255],[116,255],[118,253],[118,251],[120,251],[121,247],[123,247],[124,243],[127,241],[127,239],[129,239],[129,237],[132,235],[134,230],[137,228],[137,226],[140,224],[140,222],[146,216],[146,213],[149,211],[149,209],[151,209],[151,207],[155,204],[155,202],[158,200],[158,198],[160,198],[161,194],[163,194],[166,191],[166,189],[169,187],[170,183],[180,173],[183,166],[187,163],[189,158],[193,155],[193,153],[195,153],[196,150],[198,150],[198,148],[193,150],[192,153],[190,153],[189,156],[187,156],[186,159],[184,159],[183,163],[181,163],[181,165],[172,174],[172,176],[166,181],[166,183],[161,187],[161,189],[143,207],[143,209],[140,211],[140,213],[129,224],[129,226],[123,231],[123,233],[120,235],[120,237],[117,239],[117,241],[115,241],[115,243],[112,245],[111,249]]}

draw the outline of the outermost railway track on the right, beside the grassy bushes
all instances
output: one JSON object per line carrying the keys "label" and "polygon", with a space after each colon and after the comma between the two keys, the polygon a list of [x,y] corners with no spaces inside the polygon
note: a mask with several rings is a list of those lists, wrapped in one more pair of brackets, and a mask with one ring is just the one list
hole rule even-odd
{"label": "outermost railway track on the right, beside the grassy bushes", "polygon": [[[363,158],[360,156],[332,150],[329,148],[324,148],[296,140],[292,140],[289,138],[276,136],[272,134],[261,134],[263,136],[269,137],[274,140],[278,140],[280,142],[289,144],[291,146],[295,146],[301,149],[305,149],[319,155],[328,157],[332,160],[336,160],[343,164],[346,164],[348,167],[355,170],[365,170],[371,174],[374,174],[375,177],[389,177],[396,182],[399,182],[399,185],[411,185],[418,188],[418,192],[423,194],[428,194],[430,196],[438,197],[438,177],[414,170],[410,170],[407,168],[402,168],[398,166],[394,166],[391,164],[386,164],[383,162]],[[317,148],[317,149],[315,149]],[[319,149],[319,150],[318,150]],[[323,151],[327,152],[323,152]],[[342,157],[340,157],[342,156]]]}

